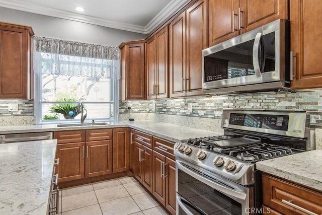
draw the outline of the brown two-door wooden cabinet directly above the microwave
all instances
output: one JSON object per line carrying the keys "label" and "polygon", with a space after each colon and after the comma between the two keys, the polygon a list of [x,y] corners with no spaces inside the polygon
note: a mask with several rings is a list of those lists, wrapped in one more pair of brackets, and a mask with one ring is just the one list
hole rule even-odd
{"label": "brown two-door wooden cabinet directly above the microwave", "polygon": [[288,16],[287,0],[208,0],[208,45]]}

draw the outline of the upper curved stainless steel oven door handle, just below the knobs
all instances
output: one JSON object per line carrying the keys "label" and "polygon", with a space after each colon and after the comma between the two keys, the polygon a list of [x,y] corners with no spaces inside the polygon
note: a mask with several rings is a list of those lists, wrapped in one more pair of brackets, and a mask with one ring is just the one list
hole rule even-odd
{"label": "upper curved stainless steel oven door handle, just below the knobs", "polygon": [[243,193],[243,192],[238,192],[236,190],[233,189],[229,189],[227,187],[224,187],[218,183],[216,183],[215,181],[211,181],[205,177],[200,176],[199,174],[196,174],[195,172],[189,170],[188,168],[184,167],[179,161],[176,161],[177,167],[178,169],[184,171],[185,173],[191,175],[192,177],[198,179],[199,181],[209,185],[210,187],[213,187],[214,189],[222,192],[222,193],[226,193],[230,196],[233,196],[235,198],[238,199],[243,199],[245,200],[247,198],[247,193]]}

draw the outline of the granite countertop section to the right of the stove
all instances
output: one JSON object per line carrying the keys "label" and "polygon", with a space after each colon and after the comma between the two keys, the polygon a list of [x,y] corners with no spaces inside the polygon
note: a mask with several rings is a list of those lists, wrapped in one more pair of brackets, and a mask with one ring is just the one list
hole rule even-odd
{"label": "granite countertop section to the right of the stove", "polygon": [[260,161],[256,169],[322,192],[322,150]]}

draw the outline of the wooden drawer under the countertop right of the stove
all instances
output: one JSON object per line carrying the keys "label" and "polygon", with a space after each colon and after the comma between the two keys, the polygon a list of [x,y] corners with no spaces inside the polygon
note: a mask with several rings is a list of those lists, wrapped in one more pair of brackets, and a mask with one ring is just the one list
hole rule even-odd
{"label": "wooden drawer under the countertop right of the stove", "polygon": [[322,193],[263,174],[263,204],[283,214],[307,214],[294,205],[321,214]]}

